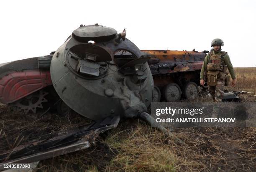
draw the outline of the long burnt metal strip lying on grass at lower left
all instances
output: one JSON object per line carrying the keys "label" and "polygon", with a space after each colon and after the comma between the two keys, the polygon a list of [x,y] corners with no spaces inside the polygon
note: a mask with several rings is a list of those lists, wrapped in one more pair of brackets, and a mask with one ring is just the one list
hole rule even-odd
{"label": "long burnt metal strip lying on grass at lower left", "polygon": [[3,164],[30,163],[86,149],[98,134],[115,128],[119,121],[119,116],[108,116],[90,125],[33,138],[27,144],[1,154],[0,169]]}

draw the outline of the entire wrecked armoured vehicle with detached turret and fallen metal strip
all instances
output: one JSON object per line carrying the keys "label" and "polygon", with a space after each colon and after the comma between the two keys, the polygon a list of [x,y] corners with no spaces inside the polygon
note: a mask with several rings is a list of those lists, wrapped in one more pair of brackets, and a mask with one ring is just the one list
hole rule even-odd
{"label": "entire wrecked armoured vehicle with detached turret and fallen metal strip", "polygon": [[80,25],[50,55],[0,64],[2,104],[25,114],[44,106],[62,115],[72,109],[95,120],[28,140],[1,154],[0,167],[85,149],[120,118],[140,118],[172,135],[147,109],[152,101],[179,101],[182,92],[186,99],[196,96],[207,51],[141,51],[125,36],[125,30]]}

